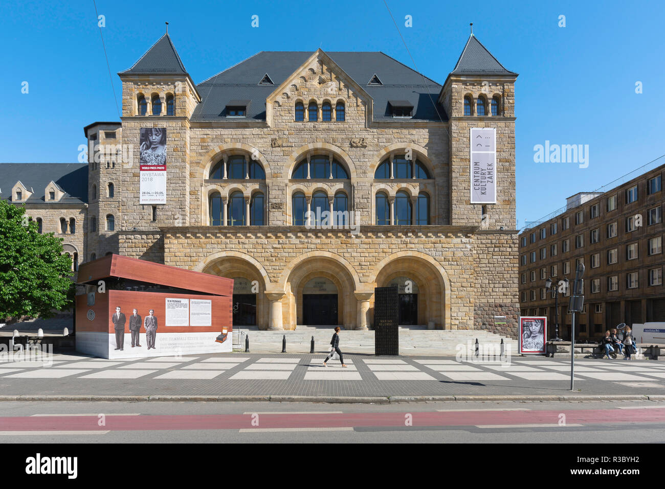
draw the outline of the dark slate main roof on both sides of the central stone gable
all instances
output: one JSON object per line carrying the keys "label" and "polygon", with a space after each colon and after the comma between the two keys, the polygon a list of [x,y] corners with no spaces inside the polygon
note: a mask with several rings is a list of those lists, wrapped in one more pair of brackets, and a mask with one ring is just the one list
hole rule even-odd
{"label": "dark slate main roof on both sides of the central stone gable", "polygon": [[[231,100],[251,100],[246,120],[265,120],[265,99],[311,55],[312,51],[261,51],[199,83],[203,101],[192,120],[225,120]],[[326,52],[374,100],[374,120],[392,121],[388,100],[407,100],[414,106],[412,120],[448,120],[437,103],[441,85],[383,52]],[[259,85],[265,74],[274,85]],[[383,85],[368,85],[374,74]],[[438,114],[437,114],[438,111]],[[233,121],[243,118],[234,117]],[[404,119],[400,119],[404,121]]]}

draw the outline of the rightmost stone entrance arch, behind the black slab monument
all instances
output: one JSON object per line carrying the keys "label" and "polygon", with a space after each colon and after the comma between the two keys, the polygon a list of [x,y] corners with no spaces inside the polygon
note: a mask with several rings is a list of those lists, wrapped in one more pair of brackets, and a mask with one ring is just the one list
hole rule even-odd
{"label": "rightmost stone entrance arch, behind the black slab monument", "polygon": [[[399,286],[405,278],[412,280],[411,294],[416,294],[416,298],[410,298],[409,305],[415,309],[416,324],[433,322],[436,329],[450,328],[450,285],[442,266],[431,256],[420,252],[395,253],[376,266],[377,287],[387,287],[391,283],[398,283]],[[401,292],[408,294],[406,290]],[[400,297],[400,300],[403,298]]]}

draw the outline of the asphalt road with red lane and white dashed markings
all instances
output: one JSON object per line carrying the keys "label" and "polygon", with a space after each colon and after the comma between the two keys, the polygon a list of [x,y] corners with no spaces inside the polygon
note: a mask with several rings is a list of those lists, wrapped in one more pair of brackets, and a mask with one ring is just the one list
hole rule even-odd
{"label": "asphalt road with red lane and white dashed markings", "polygon": [[8,443],[649,443],[665,402],[0,403]]}

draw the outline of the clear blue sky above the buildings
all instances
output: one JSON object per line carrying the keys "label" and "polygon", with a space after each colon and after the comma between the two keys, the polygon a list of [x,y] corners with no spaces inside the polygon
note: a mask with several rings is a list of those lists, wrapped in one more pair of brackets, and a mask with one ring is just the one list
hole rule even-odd
{"label": "clear blue sky above the buildings", "polygon": [[[388,0],[418,70],[443,83],[469,34],[516,84],[517,219],[665,154],[662,1],[467,2]],[[383,0],[96,0],[112,79],[164,33],[198,83],[259,50],[381,50],[413,67]],[[139,8],[140,7],[140,8]],[[251,16],[259,27],[251,27]],[[413,27],[404,27],[411,15]],[[559,16],[565,15],[565,27]],[[92,0],[3,3],[5,94],[0,161],[75,162],[82,128],[118,120]],[[29,93],[21,93],[22,82]],[[642,94],[635,93],[642,82]],[[535,163],[537,144],[589,145],[589,167]]]}

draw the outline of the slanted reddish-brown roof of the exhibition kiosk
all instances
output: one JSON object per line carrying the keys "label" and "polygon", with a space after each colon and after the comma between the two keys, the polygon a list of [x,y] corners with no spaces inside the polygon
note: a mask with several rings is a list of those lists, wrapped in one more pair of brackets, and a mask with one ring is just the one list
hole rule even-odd
{"label": "slanted reddish-brown roof of the exhibition kiosk", "polygon": [[177,266],[139,260],[120,254],[109,254],[78,268],[78,283],[97,282],[108,277],[129,278],[140,282],[214,294],[233,295],[233,279],[211,275]]}

